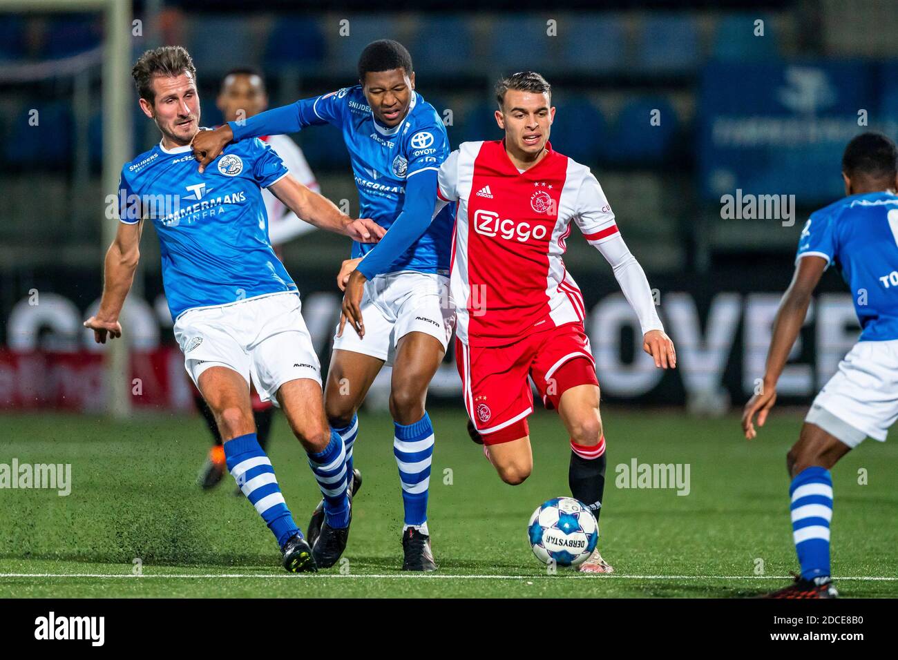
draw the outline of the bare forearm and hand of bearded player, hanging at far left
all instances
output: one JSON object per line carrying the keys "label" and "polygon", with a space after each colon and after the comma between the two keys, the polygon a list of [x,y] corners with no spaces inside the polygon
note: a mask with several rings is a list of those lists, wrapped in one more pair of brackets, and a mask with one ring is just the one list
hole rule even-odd
{"label": "bare forearm and hand of bearded player, hanging at far left", "polygon": [[119,314],[128,291],[131,290],[137,261],[140,260],[140,233],[143,224],[142,220],[133,224],[119,223],[119,232],[106,251],[100,309],[84,321],[84,327],[93,330],[93,339],[98,344],[105,344],[107,335],[110,339],[121,337]]}

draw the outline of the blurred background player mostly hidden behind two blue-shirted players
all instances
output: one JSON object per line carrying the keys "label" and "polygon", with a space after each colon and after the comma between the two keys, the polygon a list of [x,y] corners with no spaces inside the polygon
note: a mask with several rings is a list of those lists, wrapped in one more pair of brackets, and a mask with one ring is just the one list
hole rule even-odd
{"label": "blurred background player mostly hidden behind two blue-shirted players", "polygon": [[[225,121],[240,121],[258,115],[268,108],[269,96],[265,87],[265,80],[259,71],[251,67],[233,69],[222,78],[221,90],[216,98],[216,106],[221,110]],[[306,162],[303,150],[287,136],[261,136],[260,140],[268,144],[275,153],[280,156],[286,169],[295,180],[306,188],[319,192],[318,181],[312,173],[312,168]],[[296,216],[281,201],[272,195],[268,189],[262,189],[262,200],[265,202],[265,212],[269,216],[269,240],[275,254],[281,258],[280,245],[287,241],[311,232],[315,227]],[[268,448],[271,423],[274,418],[274,406],[270,401],[263,401],[253,389],[252,414],[256,420],[256,435],[262,449]],[[221,481],[225,474],[225,448],[221,435],[218,433],[216,418],[212,410],[206,404],[202,395],[196,388],[193,390],[193,400],[197,409],[206,420],[209,431],[212,433],[213,444],[209,450],[206,463],[199,472],[199,485],[202,488],[213,488]],[[240,489],[237,489],[240,495]]]}

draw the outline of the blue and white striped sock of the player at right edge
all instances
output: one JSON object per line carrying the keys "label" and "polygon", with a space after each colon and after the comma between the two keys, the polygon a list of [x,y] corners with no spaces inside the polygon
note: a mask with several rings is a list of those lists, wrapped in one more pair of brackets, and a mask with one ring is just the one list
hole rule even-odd
{"label": "blue and white striped sock of the player at right edge", "polygon": [[806,580],[830,575],[832,477],[819,467],[799,472],[789,487],[792,539]]}

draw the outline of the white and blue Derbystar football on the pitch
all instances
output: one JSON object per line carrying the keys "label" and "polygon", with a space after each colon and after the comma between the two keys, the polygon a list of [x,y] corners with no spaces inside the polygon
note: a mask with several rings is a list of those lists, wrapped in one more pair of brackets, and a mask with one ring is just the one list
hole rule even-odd
{"label": "white and blue Derbystar football on the pitch", "polygon": [[599,524],[593,513],[573,497],[555,497],[530,516],[527,535],[533,554],[544,564],[582,564],[599,541]]}

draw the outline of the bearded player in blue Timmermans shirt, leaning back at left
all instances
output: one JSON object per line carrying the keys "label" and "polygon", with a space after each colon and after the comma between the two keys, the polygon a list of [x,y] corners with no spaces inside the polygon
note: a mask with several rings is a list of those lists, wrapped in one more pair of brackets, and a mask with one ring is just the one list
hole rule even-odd
{"label": "bearded player in blue Timmermans shirt, leaning back at left", "polygon": [[[332,566],[346,548],[351,472],[343,438],[324,415],[318,357],[296,285],[271,248],[261,189],[308,222],[359,242],[376,241],[383,229],[352,220],[305,188],[260,140],[228,147],[208,172],[198,172],[190,154],[200,130],[197,71],[184,48],[148,50],[131,74],[141,110],[162,141],[122,168],[119,230],[106,254],[100,309],[84,326],[99,343],[121,336],[119,313],[149,218],[159,236],[175,339],[215,415],[228,470],[274,533],[284,568]],[[324,496],[325,521],[311,548],[257,440],[251,382],[262,400],[284,410]]]}

